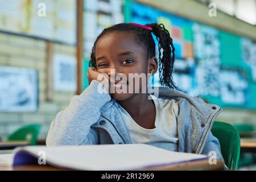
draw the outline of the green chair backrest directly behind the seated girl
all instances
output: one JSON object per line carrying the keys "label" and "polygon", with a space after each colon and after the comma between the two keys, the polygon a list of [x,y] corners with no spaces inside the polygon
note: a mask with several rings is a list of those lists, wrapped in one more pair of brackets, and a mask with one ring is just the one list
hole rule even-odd
{"label": "green chair backrest directly behind the seated girl", "polygon": [[230,170],[237,170],[240,158],[240,136],[233,125],[215,121],[212,134],[218,139],[221,154]]}

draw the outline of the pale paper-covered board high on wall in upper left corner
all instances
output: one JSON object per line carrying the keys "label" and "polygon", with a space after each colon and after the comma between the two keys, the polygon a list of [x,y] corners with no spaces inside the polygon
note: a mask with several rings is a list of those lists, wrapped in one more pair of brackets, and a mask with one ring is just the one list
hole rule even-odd
{"label": "pale paper-covered board high on wall in upper left corner", "polygon": [[0,1],[0,31],[75,45],[76,0]]}

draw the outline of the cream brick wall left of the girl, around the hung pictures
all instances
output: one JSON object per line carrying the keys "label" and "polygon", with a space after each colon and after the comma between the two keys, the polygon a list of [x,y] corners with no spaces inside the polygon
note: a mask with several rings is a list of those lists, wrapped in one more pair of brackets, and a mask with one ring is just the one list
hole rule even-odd
{"label": "cream brick wall left of the girl, around the hung pictures", "polygon": [[[39,137],[45,138],[51,121],[58,111],[69,104],[75,92],[52,91],[51,101],[47,92],[47,42],[24,36],[0,33],[0,66],[35,68],[38,71],[39,105],[35,112],[0,113],[0,136],[5,139],[22,125],[40,123]],[[53,44],[53,54],[76,56],[76,47]]]}

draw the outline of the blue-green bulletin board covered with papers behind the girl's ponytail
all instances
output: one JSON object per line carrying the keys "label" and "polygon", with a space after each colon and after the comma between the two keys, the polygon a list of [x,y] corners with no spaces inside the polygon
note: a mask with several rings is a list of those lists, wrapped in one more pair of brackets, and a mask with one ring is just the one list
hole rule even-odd
{"label": "blue-green bulletin board covered with papers behind the girl's ponytail", "polygon": [[[127,22],[163,23],[174,39],[179,89],[221,107],[256,109],[256,43],[198,22],[130,2]],[[160,86],[159,78],[153,84]]]}

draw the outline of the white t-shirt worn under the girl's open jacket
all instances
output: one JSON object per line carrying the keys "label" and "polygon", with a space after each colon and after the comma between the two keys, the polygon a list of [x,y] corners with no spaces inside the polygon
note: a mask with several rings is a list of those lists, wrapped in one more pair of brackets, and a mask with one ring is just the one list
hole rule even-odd
{"label": "white t-shirt worn under the girl's open jacket", "polygon": [[139,126],[130,114],[117,103],[119,113],[129,130],[131,142],[177,151],[177,114],[179,111],[177,101],[150,96],[156,108],[154,129],[145,129]]}

